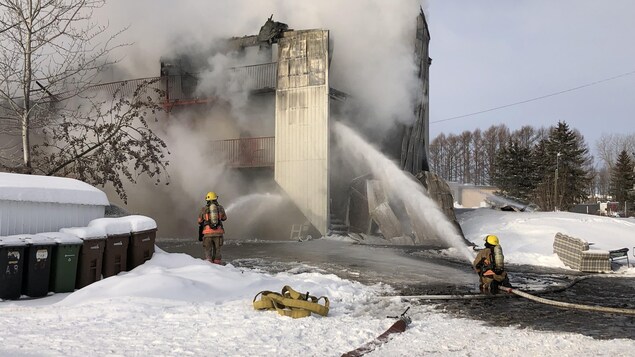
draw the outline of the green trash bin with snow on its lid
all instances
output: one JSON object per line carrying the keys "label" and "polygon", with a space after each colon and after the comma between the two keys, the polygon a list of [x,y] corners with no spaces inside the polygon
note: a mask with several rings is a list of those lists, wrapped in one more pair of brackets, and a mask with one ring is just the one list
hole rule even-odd
{"label": "green trash bin with snow on its lid", "polygon": [[77,262],[79,260],[79,249],[84,243],[78,237],[61,232],[38,233],[52,239],[53,257],[51,259],[51,279],[49,281],[49,291],[55,293],[68,293],[75,290],[75,280],[77,278]]}

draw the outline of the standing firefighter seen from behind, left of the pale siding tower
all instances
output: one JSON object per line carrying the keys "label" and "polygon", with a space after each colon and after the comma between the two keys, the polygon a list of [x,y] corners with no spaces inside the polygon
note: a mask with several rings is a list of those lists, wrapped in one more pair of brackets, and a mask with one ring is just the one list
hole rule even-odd
{"label": "standing firefighter seen from behind, left of the pale siding tower", "polygon": [[227,219],[225,208],[218,203],[215,192],[205,196],[206,204],[198,215],[198,240],[203,242],[205,259],[210,263],[221,263],[220,249],[223,246],[223,221]]}

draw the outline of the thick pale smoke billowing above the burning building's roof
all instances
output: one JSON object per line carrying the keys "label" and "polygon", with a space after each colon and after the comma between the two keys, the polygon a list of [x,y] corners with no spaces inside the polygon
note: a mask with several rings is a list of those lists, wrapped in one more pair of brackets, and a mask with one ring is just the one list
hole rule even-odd
{"label": "thick pale smoke billowing above the burning building's roof", "polygon": [[161,56],[255,35],[271,14],[291,29],[328,29],[331,87],[352,94],[365,108],[360,113],[365,122],[383,131],[395,121],[414,120],[413,43],[420,6],[420,0],[137,0],[109,2],[102,15],[113,29],[130,25],[123,36],[134,45],[121,63],[127,78],[158,75]]}

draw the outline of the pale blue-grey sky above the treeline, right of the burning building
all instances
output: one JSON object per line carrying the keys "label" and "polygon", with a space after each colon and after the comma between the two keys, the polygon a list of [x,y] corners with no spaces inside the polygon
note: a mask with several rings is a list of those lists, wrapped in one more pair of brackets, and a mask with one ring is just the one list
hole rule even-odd
{"label": "pale blue-grey sky above the treeline, right of the burning building", "polygon": [[602,134],[634,133],[633,14],[630,0],[429,0],[430,136],[566,121],[593,150]]}

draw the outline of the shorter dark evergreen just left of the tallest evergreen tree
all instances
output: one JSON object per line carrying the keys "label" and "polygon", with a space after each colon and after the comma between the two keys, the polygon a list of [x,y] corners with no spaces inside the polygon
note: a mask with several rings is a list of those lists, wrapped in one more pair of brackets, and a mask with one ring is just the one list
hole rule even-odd
{"label": "shorter dark evergreen just left of the tallest evergreen tree", "polygon": [[496,155],[494,184],[505,196],[530,200],[536,189],[536,169],[531,149],[509,140]]}

